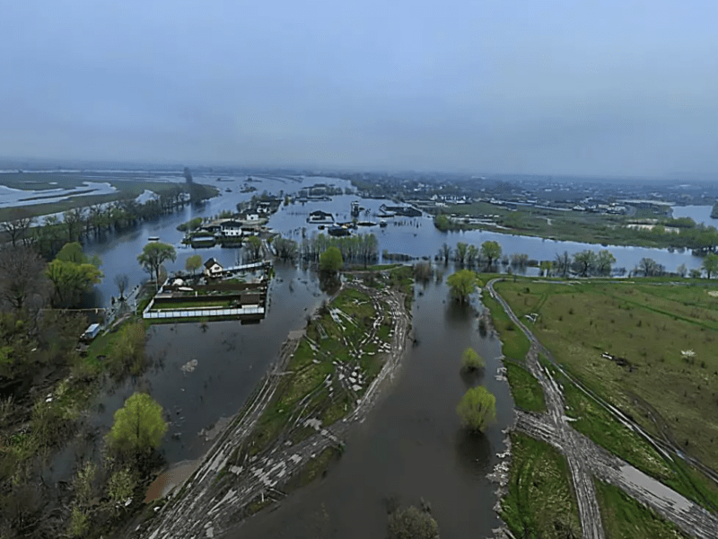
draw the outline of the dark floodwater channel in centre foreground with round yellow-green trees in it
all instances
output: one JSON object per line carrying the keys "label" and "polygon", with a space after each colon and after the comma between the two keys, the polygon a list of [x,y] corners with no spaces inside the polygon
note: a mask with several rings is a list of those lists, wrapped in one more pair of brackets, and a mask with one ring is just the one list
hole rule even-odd
{"label": "dark floodwater channel in centre foreground with round yellow-green trees in it", "polygon": [[[392,387],[353,429],[327,476],[223,537],[382,537],[389,497],[402,505],[430,502],[443,537],[491,535],[499,522],[495,484],[486,474],[505,448],[501,431],[513,419],[508,384],[495,377],[500,341],[482,338],[476,315],[452,302],[444,285],[429,285],[416,297],[412,325],[418,344],[407,349]],[[468,346],[486,358],[480,376],[460,375]],[[477,384],[495,393],[497,421],[486,434],[469,435],[456,406]]]}

